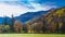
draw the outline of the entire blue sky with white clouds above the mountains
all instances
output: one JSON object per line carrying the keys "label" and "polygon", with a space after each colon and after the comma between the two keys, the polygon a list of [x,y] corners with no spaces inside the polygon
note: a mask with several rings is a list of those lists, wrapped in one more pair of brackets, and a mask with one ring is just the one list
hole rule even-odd
{"label": "entire blue sky with white clouds above the mountains", "polygon": [[0,16],[18,16],[26,12],[65,7],[65,0],[0,0]]}

